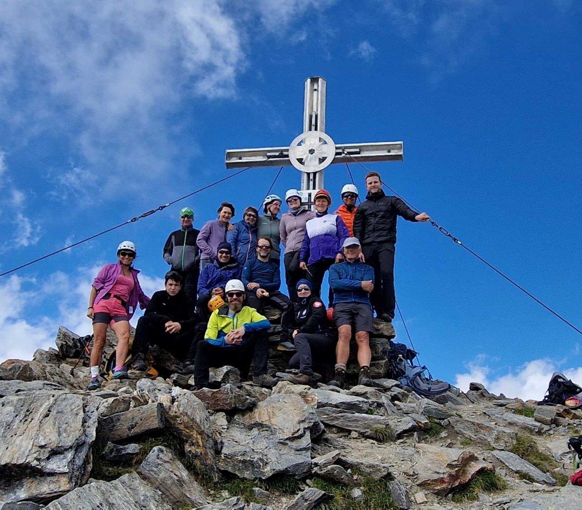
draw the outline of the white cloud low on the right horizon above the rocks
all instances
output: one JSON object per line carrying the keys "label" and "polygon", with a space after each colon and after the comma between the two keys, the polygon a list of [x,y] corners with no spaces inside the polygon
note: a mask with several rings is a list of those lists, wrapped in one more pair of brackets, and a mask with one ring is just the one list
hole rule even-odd
{"label": "white cloud low on the right horizon above the rocks", "polygon": [[455,386],[463,391],[469,389],[469,383],[476,382],[496,395],[542,400],[553,372],[562,372],[582,386],[582,367],[567,367],[550,359],[534,359],[503,375],[492,375],[493,370],[479,362],[469,363],[467,368],[468,372],[456,375]]}

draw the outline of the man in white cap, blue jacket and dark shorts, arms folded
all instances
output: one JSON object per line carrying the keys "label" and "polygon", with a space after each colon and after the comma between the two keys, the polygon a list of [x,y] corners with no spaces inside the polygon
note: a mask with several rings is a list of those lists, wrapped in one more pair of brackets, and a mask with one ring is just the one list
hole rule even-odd
{"label": "man in white cap, blue jacket and dark shorts, arms folded", "polygon": [[343,388],[346,363],[350,356],[352,328],[356,331],[360,375],[358,384],[371,384],[370,332],[372,331],[372,307],[370,293],[374,290],[374,269],[360,261],[361,246],[356,237],[343,242],[345,262],[329,268],[329,285],[333,289],[333,322],[338,328],[335,376],[331,386]]}

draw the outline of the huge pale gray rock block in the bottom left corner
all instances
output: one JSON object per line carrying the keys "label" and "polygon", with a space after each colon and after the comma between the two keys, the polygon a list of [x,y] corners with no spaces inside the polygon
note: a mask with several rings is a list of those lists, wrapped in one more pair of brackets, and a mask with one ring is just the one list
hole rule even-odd
{"label": "huge pale gray rock block in the bottom left corner", "polygon": [[48,501],[87,480],[100,400],[62,391],[0,399],[2,500]]}

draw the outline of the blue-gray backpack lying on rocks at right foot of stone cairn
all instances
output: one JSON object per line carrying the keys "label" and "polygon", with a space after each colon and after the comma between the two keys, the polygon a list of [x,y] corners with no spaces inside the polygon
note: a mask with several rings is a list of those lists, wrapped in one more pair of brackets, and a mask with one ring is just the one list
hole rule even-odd
{"label": "blue-gray backpack lying on rocks at right foot of stone cairn", "polygon": [[[386,353],[389,371],[392,379],[399,381],[418,395],[434,397],[450,389],[450,384],[444,381],[435,381],[426,366],[414,365],[413,359],[418,353],[404,344],[390,341],[390,348]],[[427,375],[425,375],[425,372]]]}

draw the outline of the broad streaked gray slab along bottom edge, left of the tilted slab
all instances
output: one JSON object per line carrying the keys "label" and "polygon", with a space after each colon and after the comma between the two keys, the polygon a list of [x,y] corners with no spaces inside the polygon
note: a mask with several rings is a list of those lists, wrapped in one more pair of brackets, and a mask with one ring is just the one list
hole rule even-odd
{"label": "broad streaked gray slab along bottom edge, left of the tilted slab", "polygon": [[144,482],[136,473],[120,476],[113,482],[93,482],[78,487],[48,504],[45,510],[80,508],[123,508],[123,510],[172,510],[164,495]]}

